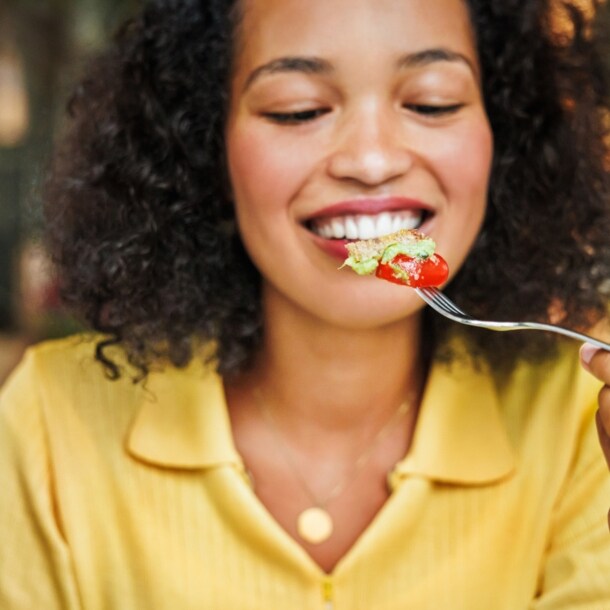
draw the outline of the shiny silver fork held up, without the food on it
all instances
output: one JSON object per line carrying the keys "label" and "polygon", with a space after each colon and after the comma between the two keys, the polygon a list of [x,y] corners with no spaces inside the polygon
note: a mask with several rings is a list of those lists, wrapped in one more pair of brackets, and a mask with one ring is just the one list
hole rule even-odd
{"label": "shiny silver fork held up, without the food on it", "polygon": [[468,326],[478,326],[480,328],[488,328],[490,330],[546,330],[553,333],[559,333],[578,341],[583,341],[601,347],[610,351],[610,343],[604,343],[598,339],[594,339],[584,333],[576,332],[563,326],[556,324],[542,324],[539,322],[493,322],[491,320],[477,320],[469,316],[465,311],[461,310],[451,299],[446,297],[437,288],[416,288],[415,292],[426,302],[430,307],[438,313],[454,322],[467,324]]}

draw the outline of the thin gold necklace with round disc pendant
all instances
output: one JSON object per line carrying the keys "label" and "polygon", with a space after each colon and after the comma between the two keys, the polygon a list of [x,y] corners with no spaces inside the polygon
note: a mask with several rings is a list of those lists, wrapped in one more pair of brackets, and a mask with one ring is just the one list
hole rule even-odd
{"label": "thin gold necklace with round disc pendant", "polygon": [[406,415],[413,405],[413,396],[401,403],[398,406],[398,409],[396,409],[396,411],[393,413],[392,417],[390,417],[390,419],[382,426],[366,449],[358,456],[354,463],[354,467],[350,470],[350,472],[333,486],[333,488],[326,494],[326,497],[319,498],[311,490],[307,481],[303,477],[303,474],[301,473],[294,459],[294,452],[283,437],[275,418],[267,406],[267,402],[265,401],[260,388],[256,388],[254,390],[254,400],[263,415],[263,419],[267,422],[269,428],[276,437],[278,448],[284,456],[286,463],[292,470],[299,485],[312,502],[312,506],[301,511],[297,517],[297,532],[303,540],[309,542],[310,544],[320,544],[332,536],[335,525],[327,510],[327,506],[335,498],[338,498],[347,489],[350,483],[356,479],[360,471],[371,459],[373,452],[379,443],[381,443],[381,441],[390,433],[398,420]]}

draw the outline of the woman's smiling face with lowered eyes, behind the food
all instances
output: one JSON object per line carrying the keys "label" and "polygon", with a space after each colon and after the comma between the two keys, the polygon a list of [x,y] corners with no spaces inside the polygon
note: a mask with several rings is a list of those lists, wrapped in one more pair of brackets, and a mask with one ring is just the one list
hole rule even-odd
{"label": "woman's smiling face with lowered eyes, behind the food", "polygon": [[339,270],[346,239],[480,229],[492,135],[463,0],[242,0],[227,123],[239,230],[264,295],[373,327],[412,290]]}

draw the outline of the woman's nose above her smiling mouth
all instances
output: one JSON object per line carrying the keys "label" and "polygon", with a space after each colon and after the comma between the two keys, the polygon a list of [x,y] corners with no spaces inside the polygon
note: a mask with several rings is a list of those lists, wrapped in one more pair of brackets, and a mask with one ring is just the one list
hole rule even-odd
{"label": "woman's nose above her smiling mouth", "polygon": [[413,152],[401,127],[400,116],[393,109],[375,102],[346,116],[335,134],[328,173],[367,186],[407,173],[413,164]]}

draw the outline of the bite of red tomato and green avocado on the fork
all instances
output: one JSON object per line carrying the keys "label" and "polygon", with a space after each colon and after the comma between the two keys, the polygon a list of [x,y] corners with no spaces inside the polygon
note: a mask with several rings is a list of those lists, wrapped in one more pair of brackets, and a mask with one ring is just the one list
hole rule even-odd
{"label": "bite of red tomato and green avocado on the fork", "polygon": [[445,259],[436,254],[434,240],[415,229],[355,241],[346,248],[349,256],[343,265],[359,275],[374,273],[411,288],[440,286],[449,275]]}

